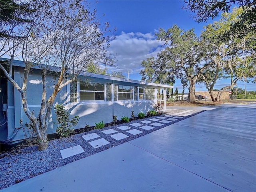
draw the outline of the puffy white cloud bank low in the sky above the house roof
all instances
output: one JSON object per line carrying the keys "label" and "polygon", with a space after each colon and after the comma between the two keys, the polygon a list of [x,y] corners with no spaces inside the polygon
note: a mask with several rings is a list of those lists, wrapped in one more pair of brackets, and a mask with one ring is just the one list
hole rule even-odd
{"label": "puffy white cloud bank low in the sky above the house roof", "polygon": [[110,53],[116,54],[115,67],[108,67],[108,70],[121,71],[130,74],[139,73],[142,69],[141,62],[148,57],[156,57],[156,54],[162,50],[163,43],[156,40],[154,34],[147,33],[125,33],[122,32],[111,41]]}

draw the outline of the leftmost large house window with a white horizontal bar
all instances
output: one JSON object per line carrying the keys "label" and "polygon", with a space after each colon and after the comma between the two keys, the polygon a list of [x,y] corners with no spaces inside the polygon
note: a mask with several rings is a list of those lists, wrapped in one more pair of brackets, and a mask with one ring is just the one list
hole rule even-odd
{"label": "leftmost large house window with a white horizontal bar", "polygon": [[105,100],[105,84],[80,82],[80,101]]}

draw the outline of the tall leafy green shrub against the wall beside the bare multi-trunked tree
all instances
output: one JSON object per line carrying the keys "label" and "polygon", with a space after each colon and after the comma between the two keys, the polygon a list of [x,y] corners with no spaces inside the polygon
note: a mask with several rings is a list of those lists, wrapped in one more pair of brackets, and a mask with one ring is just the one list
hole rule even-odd
{"label": "tall leafy green shrub against the wall beside the bare multi-trunked tree", "polygon": [[65,110],[62,104],[57,104],[54,109],[56,110],[57,122],[59,126],[56,129],[56,132],[60,137],[68,137],[74,132],[74,129],[71,129],[73,126],[76,126],[79,121],[79,116],[74,116],[71,120],[69,119],[69,113]]}

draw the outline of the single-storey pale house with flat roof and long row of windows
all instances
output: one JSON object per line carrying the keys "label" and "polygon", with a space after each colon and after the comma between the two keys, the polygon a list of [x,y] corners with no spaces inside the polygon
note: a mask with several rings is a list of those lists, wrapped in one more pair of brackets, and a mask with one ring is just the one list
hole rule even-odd
{"label": "single-storey pale house with flat roof and long row of windows", "polygon": [[[19,85],[23,82],[23,73],[24,63],[15,60],[13,76]],[[53,90],[54,83],[54,76],[48,75],[48,96]],[[36,114],[39,112],[42,102],[42,82],[39,68],[34,68],[29,73],[27,87],[28,105],[30,110],[34,110]],[[12,86],[2,72],[0,88],[1,140],[10,139],[11,142],[23,140],[25,138],[24,132],[17,128],[20,128],[21,119],[23,124],[29,122],[29,119],[22,108],[20,92]],[[166,88],[173,88],[173,86],[84,72],[77,78],[77,82],[62,88],[55,102],[56,104],[62,103],[70,113],[71,118],[74,115],[80,117],[79,123],[74,127],[78,129],[83,128],[86,124],[94,126],[100,121],[112,122],[113,115],[120,120],[122,116],[131,117],[131,111],[137,114],[140,111],[146,113],[152,110],[157,102],[158,88],[166,90]],[[166,91],[164,91],[165,94]],[[56,115],[52,110],[48,134],[56,132],[57,124],[54,122],[56,122]]]}

